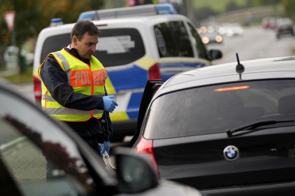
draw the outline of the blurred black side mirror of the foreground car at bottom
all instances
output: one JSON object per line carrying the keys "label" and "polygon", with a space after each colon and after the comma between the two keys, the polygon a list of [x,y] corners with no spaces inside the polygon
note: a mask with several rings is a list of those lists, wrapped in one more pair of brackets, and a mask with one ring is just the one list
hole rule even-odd
{"label": "blurred black side mirror of the foreground car at bottom", "polygon": [[158,178],[151,163],[142,154],[127,147],[115,148],[118,188],[122,193],[134,194],[158,186]]}

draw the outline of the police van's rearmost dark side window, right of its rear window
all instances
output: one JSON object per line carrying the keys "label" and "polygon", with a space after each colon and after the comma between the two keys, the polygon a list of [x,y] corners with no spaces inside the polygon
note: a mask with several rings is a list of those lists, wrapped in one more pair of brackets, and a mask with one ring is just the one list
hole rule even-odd
{"label": "police van's rearmost dark side window, right of its rear window", "polygon": [[193,57],[188,32],[182,21],[161,23],[154,26],[160,57]]}

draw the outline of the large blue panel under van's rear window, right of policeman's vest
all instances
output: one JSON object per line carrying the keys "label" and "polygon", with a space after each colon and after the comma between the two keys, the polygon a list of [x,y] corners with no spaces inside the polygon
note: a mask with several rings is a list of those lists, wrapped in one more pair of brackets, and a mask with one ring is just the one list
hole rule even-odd
{"label": "large blue panel under van's rear window, right of policeman's vest", "polygon": [[138,66],[126,70],[108,71],[108,76],[116,92],[127,89],[145,88],[148,72]]}

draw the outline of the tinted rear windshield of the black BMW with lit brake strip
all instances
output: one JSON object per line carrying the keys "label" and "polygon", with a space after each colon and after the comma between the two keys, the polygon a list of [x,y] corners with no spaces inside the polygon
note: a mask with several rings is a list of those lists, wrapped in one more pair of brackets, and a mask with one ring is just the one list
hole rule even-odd
{"label": "tinted rear windshield of the black BMW with lit brake strip", "polygon": [[164,139],[221,133],[257,121],[293,119],[295,80],[238,82],[186,89],[155,99],[144,136]]}

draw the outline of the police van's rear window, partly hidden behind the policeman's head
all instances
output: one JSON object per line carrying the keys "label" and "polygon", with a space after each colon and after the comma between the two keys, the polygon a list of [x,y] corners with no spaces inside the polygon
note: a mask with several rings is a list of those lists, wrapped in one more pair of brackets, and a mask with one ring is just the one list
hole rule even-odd
{"label": "police van's rear window, partly hidden behind the policeman's head", "polygon": [[[104,67],[126,65],[146,53],[141,35],[134,28],[100,29],[98,41],[93,55]],[[42,47],[40,63],[48,53],[59,51],[70,43],[70,33],[48,37]]]}

